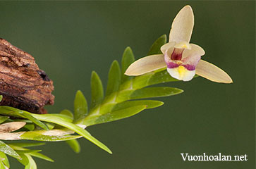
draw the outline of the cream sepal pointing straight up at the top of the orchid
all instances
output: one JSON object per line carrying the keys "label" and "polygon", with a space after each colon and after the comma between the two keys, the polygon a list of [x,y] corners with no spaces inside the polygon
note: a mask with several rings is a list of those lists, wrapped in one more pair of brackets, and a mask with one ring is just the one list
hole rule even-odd
{"label": "cream sepal pointing straight up at the top of the orchid", "polygon": [[171,25],[169,42],[190,42],[194,27],[194,14],[191,6],[184,6]]}

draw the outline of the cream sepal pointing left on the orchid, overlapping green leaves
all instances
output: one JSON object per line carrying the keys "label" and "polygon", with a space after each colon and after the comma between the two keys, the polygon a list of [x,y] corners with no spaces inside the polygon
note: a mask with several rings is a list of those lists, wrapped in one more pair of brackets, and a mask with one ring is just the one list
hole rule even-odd
{"label": "cream sepal pointing left on the orchid, overlapping green leaves", "polygon": [[133,62],[127,68],[125,75],[137,76],[165,67],[166,63],[164,61],[164,55],[151,55]]}

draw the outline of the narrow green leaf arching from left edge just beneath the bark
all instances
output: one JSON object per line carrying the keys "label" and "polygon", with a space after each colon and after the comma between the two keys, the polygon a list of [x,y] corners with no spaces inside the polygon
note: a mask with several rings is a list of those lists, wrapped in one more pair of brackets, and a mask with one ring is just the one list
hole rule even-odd
{"label": "narrow green leaf arching from left edge just beneath the bark", "polygon": [[33,123],[35,123],[36,125],[38,125],[39,127],[42,127],[42,129],[49,130],[47,125],[44,125],[44,123],[34,118],[32,115],[30,115],[30,113],[26,111],[21,111],[17,108],[13,108],[9,106],[0,106],[0,112],[1,114],[5,114],[5,115],[11,115],[19,118],[27,118],[31,120]]}

